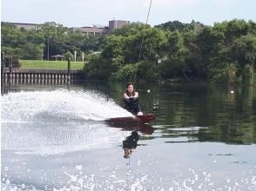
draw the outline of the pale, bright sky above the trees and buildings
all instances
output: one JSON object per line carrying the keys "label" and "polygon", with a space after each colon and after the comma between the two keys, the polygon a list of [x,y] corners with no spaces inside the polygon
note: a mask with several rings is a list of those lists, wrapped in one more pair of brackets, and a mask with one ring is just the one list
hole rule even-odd
{"label": "pale, bright sky above the trees and buildings", "polygon": [[[150,0],[1,0],[1,21],[62,23],[66,27],[126,20],[145,23]],[[192,19],[212,25],[233,18],[256,22],[256,0],[152,0],[148,23]]]}

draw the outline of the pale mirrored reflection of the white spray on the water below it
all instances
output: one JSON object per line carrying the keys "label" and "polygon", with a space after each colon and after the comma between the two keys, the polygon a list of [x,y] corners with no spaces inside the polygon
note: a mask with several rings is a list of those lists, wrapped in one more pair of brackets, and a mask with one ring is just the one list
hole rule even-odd
{"label": "pale mirrored reflection of the white spray on the water below it", "polygon": [[104,124],[65,122],[62,124],[2,124],[2,149],[14,154],[57,155],[80,150],[118,146],[127,132],[105,128]]}

